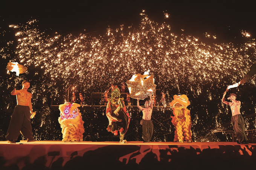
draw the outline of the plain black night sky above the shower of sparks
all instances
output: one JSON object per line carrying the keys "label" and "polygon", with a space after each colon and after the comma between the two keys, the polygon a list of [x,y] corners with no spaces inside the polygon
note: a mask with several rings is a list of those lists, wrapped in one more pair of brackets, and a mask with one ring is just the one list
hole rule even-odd
{"label": "plain black night sky above the shower of sparks", "polygon": [[[8,31],[9,24],[24,24],[38,19],[40,27],[51,28],[60,34],[78,35],[98,31],[105,33],[107,26],[117,28],[139,25],[139,13],[145,10],[155,22],[166,22],[172,31],[181,29],[187,35],[201,37],[203,33],[218,35],[218,39],[235,39],[239,30],[254,36],[255,1],[5,1],[0,12],[1,27]],[[163,12],[169,18],[163,17]]]}

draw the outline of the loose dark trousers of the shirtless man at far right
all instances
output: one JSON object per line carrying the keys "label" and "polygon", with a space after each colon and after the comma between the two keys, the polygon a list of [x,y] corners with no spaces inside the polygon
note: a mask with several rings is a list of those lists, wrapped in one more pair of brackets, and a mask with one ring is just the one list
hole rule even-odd
{"label": "loose dark trousers of the shirtless man at far right", "polygon": [[231,118],[232,125],[234,126],[234,130],[237,136],[239,143],[248,141],[245,130],[244,130],[244,118],[241,114],[232,116]]}

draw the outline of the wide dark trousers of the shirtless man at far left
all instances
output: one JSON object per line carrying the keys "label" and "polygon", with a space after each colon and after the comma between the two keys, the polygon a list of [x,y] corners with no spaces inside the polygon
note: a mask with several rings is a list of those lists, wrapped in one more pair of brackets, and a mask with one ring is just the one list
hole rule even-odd
{"label": "wide dark trousers of the shirtless man at far left", "polygon": [[17,140],[20,133],[29,140],[34,140],[30,122],[29,106],[15,106],[7,131],[6,140]]}

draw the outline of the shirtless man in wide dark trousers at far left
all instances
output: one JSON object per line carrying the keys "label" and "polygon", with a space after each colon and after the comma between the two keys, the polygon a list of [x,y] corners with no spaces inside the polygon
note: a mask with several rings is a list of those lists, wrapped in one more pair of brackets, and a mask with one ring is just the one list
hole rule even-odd
{"label": "shirtless man in wide dark trousers at far left", "polygon": [[29,81],[25,80],[22,82],[21,90],[14,88],[11,92],[11,95],[16,95],[17,106],[15,106],[7,131],[6,140],[8,140],[8,143],[16,143],[14,140],[18,139],[20,133],[27,138],[27,142],[35,141],[30,123],[30,117],[32,117],[35,112],[32,111],[32,94],[27,91],[29,86]]}

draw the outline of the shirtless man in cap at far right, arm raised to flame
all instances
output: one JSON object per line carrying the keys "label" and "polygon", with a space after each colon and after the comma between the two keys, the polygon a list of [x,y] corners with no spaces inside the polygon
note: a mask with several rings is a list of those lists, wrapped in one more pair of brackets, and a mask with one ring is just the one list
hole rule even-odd
{"label": "shirtless man in cap at far right, arm raised to flame", "polygon": [[228,100],[231,100],[232,102],[225,101],[225,95],[227,90],[224,92],[222,97],[222,102],[229,105],[231,112],[232,112],[232,125],[234,127],[238,142],[237,143],[245,143],[248,144],[248,139],[245,134],[245,128],[244,128],[244,118],[240,113],[240,106],[241,101],[236,100],[236,94],[229,94]]}

